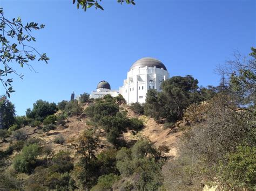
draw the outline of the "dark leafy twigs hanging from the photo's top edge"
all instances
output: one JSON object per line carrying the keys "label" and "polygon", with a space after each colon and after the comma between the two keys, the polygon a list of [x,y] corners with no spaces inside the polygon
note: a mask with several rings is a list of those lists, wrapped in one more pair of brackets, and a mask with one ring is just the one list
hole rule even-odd
{"label": "dark leafy twigs hanging from the photo's top edge", "polygon": [[[127,4],[135,5],[134,0],[117,0],[117,2],[120,4],[126,2]],[[76,0],[73,0],[73,4],[75,3]],[[104,10],[103,7],[96,0],[77,0],[77,9],[79,9],[79,6],[81,6],[84,11],[86,11],[87,8],[91,8],[92,6],[95,6],[96,9]]]}

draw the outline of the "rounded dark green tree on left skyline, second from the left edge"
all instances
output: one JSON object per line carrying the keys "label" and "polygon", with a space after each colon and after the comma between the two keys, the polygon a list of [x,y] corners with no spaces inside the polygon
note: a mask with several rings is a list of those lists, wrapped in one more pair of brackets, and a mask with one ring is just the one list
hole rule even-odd
{"label": "rounded dark green tree on left skyline, second from the left edge", "polygon": [[26,110],[26,116],[42,122],[47,116],[55,114],[56,111],[56,103],[37,100],[36,103],[33,103],[32,110],[30,108]]}

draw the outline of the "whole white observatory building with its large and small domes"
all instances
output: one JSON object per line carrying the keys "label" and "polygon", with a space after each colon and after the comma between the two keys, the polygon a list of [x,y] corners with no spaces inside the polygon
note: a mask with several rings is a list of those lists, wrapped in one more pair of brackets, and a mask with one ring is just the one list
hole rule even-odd
{"label": "whole white observatory building with its large and small domes", "polygon": [[91,98],[103,97],[110,94],[116,97],[122,94],[127,104],[145,103],[149,89],[160,91],[161,82],[169,79],[169,72],[165,65],[154,58],[142,58],[133,63],[127,73],[127,79],[118,90],[111,90],[109,82],[100,81],[96,91],[92,91]]}

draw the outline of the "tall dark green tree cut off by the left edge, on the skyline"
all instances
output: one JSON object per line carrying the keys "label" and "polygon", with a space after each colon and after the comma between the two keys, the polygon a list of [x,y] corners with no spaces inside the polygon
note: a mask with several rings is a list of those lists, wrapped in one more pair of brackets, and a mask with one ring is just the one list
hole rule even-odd
{"label": "tall dark green tree cut off by the left edge, on the skyline", "polygon": [[0,98],[0,112],[2,113],[2,127],[8,129],[15,124],[15,107],[5,96]]}

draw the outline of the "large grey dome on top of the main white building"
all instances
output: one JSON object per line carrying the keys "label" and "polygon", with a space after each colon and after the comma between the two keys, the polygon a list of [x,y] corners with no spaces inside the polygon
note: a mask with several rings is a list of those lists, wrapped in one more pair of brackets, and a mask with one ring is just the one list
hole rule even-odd
{"label": "large grey dome on top of the main white building", "polygon": [[142,58],[137,60],[136,62],[133,63],[133,65],[131,66],[130,70],[133,68],[143,68],[143,67],[154,67],[156,66],[157,68],[163,68],[164,70],[167,70],[165,65],[163,64],[163,62],[161,62],[160,60],[154,59],[154,58],[150,58],[150,57],[146,57],[146,58]]}

